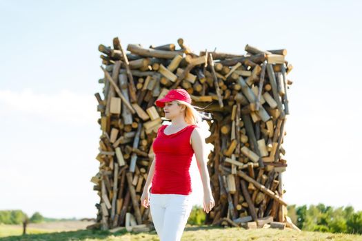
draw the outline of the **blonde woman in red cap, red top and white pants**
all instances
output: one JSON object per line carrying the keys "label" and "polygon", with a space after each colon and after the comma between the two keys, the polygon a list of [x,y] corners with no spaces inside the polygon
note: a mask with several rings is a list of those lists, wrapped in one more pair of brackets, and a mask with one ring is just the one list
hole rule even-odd
{"label": "blonde woman in red cap, red top and white pants", "polygon": [[150,205],[154,228],[161,241],[178,241],[192,209],[189,168],[193,154],[203,182],[203,210],[209,213],[215,205],[204,155],[205,140],[197,128],[205,116],[194,109],[190,95],[183,89],[170,90],[156,105],[163,107],[165,118],[172,124],[162,125],[157,131],[152,145],[154,161],[141,205],[145,208]]}

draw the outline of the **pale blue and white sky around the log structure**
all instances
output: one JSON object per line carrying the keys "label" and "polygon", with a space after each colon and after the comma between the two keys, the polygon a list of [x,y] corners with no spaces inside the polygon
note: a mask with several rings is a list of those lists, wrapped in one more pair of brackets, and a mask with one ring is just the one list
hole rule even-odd
{"label": "pale blue and white sky around the log structure", "polygon": [[[0,209],[94,217],[98,45],[286,48],[289,204],[362,210],[361,1],[0,0]],[[195,182],[196,183],[196,182]],[[197,185],[197,184],[195,184]]]}

